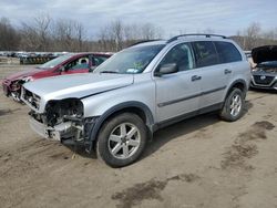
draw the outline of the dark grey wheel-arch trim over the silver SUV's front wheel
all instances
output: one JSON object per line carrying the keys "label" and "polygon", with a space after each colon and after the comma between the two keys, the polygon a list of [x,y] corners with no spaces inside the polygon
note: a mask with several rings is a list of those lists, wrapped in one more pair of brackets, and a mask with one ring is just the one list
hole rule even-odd
{"label": "dark grey wheel-arch trim over the silver SUV's front wheel", "polygon": [[91,133],[90,133],[90,142],[93,142],[96,139],[98,133],[102,126],[102,124],[106,121],[106,118],[109,116],[111,116],[112,114],[122,111],[124,108],[129,108],[129,107],[136,107],[140,108],[142,112],[144,112],[145,116],[146,116],[146,126],[148,127],[148,129],[151,131],[151,133],[153,132],[153,126],[154,126],[154,117],[152,115],[151,110],[143,103],[137,102],[137,101],[130,101],[130,102],[125,102],[125,103],[121,103],[119,105],[113,106],[112,108],[107,110],[104,114],[102,114],[100,117],[98,117]]}

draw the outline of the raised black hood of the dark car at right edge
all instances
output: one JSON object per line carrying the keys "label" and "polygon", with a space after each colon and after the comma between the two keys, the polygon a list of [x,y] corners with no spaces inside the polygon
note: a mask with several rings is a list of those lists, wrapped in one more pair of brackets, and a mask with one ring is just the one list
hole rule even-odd
{"label": "raised black hood of the dark car at right edge", "polygon": [[252,50],[253,61],[257,64],[277,61],[277,45],[265,45]]}

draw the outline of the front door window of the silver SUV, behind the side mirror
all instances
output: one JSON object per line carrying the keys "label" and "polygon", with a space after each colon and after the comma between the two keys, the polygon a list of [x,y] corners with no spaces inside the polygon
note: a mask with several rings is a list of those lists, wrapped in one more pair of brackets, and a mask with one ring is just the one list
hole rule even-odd
{"label": "front door window of the silver SUV, behind the side mirror", "polygon": [[161,64],[176,63],[178,71],[193,69],[193,55],[189,45],[178,44],[174,46],[163,59]]}

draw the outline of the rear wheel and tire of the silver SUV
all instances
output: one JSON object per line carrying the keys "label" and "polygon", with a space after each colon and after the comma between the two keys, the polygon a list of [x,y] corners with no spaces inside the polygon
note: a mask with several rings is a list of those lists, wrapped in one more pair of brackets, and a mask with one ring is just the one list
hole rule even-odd
{"label": "rear wheel and tire of the silver SUV", "polygon": [[235,122],[243,116],[245,96],[239,89],[234,87],[225,98],[219,116],[227,122]]}

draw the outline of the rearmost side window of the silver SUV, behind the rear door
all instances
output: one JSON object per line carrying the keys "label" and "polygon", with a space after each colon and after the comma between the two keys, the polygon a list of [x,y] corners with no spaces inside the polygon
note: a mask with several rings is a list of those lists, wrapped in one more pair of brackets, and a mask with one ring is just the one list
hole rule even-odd
{"label": "rearmost side window of the silver SUV, behind the rear door", "polygon": [[234,44],[216,41],[215,46],[219,55],[220,63],[242,61],[242,55]]}

